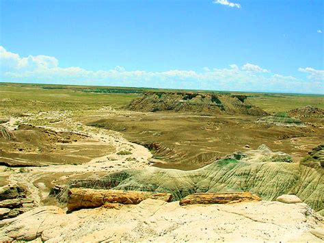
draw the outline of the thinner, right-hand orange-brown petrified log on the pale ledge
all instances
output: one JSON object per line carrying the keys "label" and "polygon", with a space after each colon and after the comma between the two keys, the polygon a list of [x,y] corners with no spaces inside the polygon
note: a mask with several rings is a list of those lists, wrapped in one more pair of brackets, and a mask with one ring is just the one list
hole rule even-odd
{"label": "thinner, right-hand orange-brown petrified log on the pale ledge", "polygon": [[261,201],[260,197],[251,192],[226,192],[226,193],[195,193],[180,200],[180,205],[188,204],[226,204],[249,201]]}

